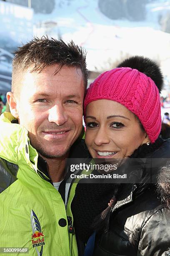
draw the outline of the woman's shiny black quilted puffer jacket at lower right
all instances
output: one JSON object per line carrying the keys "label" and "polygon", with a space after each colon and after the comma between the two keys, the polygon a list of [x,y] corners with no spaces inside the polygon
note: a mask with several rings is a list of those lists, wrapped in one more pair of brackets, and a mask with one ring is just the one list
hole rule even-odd
{"label": "woman's shiny black quilted puffer jacket at lower right", "polygon": [[127,196],[118,200],[110,230],[96,236],[93,255],[160,256],[169,248],[170,212],[158,200],[155,187],[145,185],[141,190],[140,186],[129,189]]}

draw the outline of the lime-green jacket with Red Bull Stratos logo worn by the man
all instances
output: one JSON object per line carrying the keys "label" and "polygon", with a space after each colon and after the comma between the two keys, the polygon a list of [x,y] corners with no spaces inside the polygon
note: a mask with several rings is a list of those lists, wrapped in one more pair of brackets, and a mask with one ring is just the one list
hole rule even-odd
{"label": "lime-green jacket with Red Bull Stratos logo worn by the man", "polygon": [[31,256],[77,256],[67,220],[72,218],[76,184],[65,207],[60,193],[37,169],[38,154],[28,131],[11,123],[13,119],[10,113],[0,116],[0,247],[28,248]]}

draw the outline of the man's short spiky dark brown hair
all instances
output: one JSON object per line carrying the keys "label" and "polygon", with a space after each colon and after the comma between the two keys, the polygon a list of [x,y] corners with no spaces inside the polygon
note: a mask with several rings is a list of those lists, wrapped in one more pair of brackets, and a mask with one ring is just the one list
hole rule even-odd
{"label": "man's short spiky dark brown hair", "polygon": [[20,74],[29,67],[31,72],[42,72],[45,67],[59,64],[56,73],[62,66],[80,68],[84,77],[85,89],[87,87],[88,72],[86,68],[86,51],[74,44],[73,41],[66,44],[62,39],[56,40],[42,36],[33,38],[27,44],[18,47],[14,52],[12,92],[15,92],[17,79]]}

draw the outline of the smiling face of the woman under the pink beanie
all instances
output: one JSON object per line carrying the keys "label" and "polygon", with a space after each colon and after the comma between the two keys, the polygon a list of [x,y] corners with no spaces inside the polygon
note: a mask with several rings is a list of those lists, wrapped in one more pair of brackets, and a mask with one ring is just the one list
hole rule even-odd
{"label": "smiling face of the woman under the pink beanie", "polygon": [[126,158],[148,141],[135,115],[120,103],[96,100],[87,105],[85,142],[93,158]]}

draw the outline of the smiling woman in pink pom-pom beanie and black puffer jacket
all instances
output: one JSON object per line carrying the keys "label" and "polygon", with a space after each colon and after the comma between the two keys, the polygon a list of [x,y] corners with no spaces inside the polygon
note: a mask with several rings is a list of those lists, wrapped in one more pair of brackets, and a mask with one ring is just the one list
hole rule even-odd
{"label": "smiling woman in pink pom-pom beanie and black puffer jacket", "polygon": [[[95,79],[84,102],[85,142],[92,158],[170,157],[170,140],[158,138],[162,85],[157,64],[138,56]],[[140,164],[139,169],[145,174]],[[79,255],[85,243],[85,252],[90,248],[85,255],[169,255],[170,212],[156,189],[149,183],[77,184],[72,212]]]}

